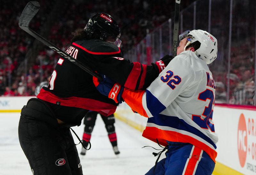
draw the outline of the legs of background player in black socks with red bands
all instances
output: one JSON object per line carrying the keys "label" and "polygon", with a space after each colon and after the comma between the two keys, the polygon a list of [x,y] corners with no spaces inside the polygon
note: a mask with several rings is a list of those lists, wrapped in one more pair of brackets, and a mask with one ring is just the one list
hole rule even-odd
{"label": "legs of background player in black socks with red bands", "polygon": [[[89,111],[84,116],[84,125],[85,126],[84,126],[84,134],[83,134],[82,141],[83,141],[85,147],[88,146],[89,141],[91,139],[92,131],[93,131],[98,114],[99,114],[98,112]],[[100,116],[105,123],[105,127],[108,132],[108,138],[113,147],[114,153],[116,155],[118,155],[118,154],[120,154],[120,151],[118,150],[118,147],[117,147],[117,138],[116,138],[116,131],[115,131],[115,126],[114,126],[114,123],[115,123],[114,114],[111,114],[107,117],[102,114],[100,114]],[[82,151],[80,154],[85,155],[85,153],[86,153],[86,149],[84,149],[84,147],[82,147]]]}

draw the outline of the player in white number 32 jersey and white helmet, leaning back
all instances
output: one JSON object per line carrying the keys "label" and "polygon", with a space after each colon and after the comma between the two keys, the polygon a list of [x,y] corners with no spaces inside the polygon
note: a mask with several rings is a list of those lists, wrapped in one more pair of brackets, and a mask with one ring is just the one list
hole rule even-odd
{"label": "player in white number 32 jersey and white helmet, leaning back", "polygon": [[207,64],[217,52],[214,36],[188,30],[180,35],[177,56],[147,90],[130,90],[106,77],[95,83],[101,93],[148,117],[142,136],[167,149],[147,175],[212,174],[218,137],[212,120],[215,83]]}

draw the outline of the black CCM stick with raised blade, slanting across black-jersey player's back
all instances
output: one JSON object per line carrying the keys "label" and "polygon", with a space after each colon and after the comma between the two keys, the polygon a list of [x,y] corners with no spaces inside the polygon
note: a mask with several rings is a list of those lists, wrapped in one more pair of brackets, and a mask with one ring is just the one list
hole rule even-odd
{"label": "black CCM stick with raised blade, slanting across black-jersey player's back", "polygon": [[20,15],[20,20],[19,20],[20,28],[22,30],[26,31],[29,35],[31,35],[34,38],[36,38],[37,40],[39,40],[40,42],[42,42],[45,45],[47,45],[48,47],[50,47],[52,50],[54,50],[57,53],[59,53],[62,56],[62,58],[65,58],[66,60],[71,61],[72,63],[74,63],[79,68],[82,68],[83,70],[85,70],[86,72],[91,74],[92,76],[95,76],[100,81],[102,81],[103,80],[102,77],[99,76],[94,71],[92,71],[92,69],[90,69],[89,67],[85,66],[82,62],[76,60],[74,57],[68,55],[66,52],[64,52],[63,50],[58,48],[56,45],[52,44],[50,41],[47,41],[45,38],[43,38],[42,36],[40,36],[39,34],[37,34],[36,32],[34,32],[33,30],[31,30],[29,28],[29,23],[36,16],[36,13],[39,11],[39,9],[40,9],[40,4],[38,2],[30,1],[25,6],[23,12]]}

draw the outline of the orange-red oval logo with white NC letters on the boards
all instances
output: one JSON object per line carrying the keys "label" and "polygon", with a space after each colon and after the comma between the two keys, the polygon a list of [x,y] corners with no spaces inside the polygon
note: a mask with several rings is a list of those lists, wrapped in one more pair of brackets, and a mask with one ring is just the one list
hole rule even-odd
{"label": "orange-red oval logo with white NC letters on the boards", "polygon": [[241,114],[237,130],[237,149],[241,167],[244,167],[247,155],[247,129],[244,114]]}

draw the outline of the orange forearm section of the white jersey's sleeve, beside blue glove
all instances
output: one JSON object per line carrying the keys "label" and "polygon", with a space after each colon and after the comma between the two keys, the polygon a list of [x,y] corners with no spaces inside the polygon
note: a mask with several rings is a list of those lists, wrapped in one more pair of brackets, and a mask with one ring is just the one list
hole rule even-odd
{"label": "orange forearm section of the white jersey's sleeve, beside blue glove", "polygon": [[144,117],[148,117],[146,111],[142,106],[142,96],[145,93],[145,90],[130,90],[124,88],[124,92],[122,94],[122,98],[127,103],[128,106],[132,108],[133,111],[136,111],[140,115]]}

